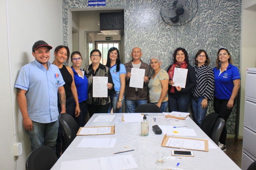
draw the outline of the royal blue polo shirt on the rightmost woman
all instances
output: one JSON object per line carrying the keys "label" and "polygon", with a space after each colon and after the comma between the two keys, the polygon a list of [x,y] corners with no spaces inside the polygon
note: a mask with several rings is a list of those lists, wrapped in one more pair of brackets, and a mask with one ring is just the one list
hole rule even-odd
{"label": "royal blue polo shirt on the rightmost woman", "polygon": [[229,100],[234,87],[233,81],[241,79],[238,68],[229,63],[227,69],[222,73],[216,67],[213,68],[213,73],[215,82],[214,97]]}

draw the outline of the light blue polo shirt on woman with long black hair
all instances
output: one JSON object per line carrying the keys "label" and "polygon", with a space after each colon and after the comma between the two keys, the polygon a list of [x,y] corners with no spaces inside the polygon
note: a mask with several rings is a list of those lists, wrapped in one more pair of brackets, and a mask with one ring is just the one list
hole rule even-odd
{"label": "light blue polo shirt on woman with long black hair", "polygon": [[112,76],[112,80],[115,84],[114,88],[115,91],[120,91],[121,84],[120,84],[120,74],[126,74],[125,65],[120,63],[120,70],[116,72],[116,64],[113,67],[110,67],[110,73]]}

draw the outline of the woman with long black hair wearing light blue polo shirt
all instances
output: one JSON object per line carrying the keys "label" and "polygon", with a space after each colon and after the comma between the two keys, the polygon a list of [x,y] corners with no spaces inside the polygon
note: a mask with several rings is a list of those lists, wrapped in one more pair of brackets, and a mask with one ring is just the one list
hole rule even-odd
{"label": "woman with long black hair wearing light blue polo shirt", "polygon": [[108,60],[106,66],[109,67],[110,73],[115,84],[115,94],[110,95],[111,104],[108,113],[113,108],[113,113],[122,113],[125,92],[126,69],[120,62],[120,54],[117,48],[112,47],[108,52]]}

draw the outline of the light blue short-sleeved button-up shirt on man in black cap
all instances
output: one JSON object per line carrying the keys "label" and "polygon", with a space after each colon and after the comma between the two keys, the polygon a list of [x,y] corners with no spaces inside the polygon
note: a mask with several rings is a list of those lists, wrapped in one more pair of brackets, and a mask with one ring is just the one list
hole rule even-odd
{"label": "light blue short-sleeved button-up shirt on man in black cap", "polygon": [[27,90],[28,116],[39,123],[58,120],[58,88],[65,84],[59,68],[47,62],[48,70],[38,61],[23,66],[15,83],[16,88]]}

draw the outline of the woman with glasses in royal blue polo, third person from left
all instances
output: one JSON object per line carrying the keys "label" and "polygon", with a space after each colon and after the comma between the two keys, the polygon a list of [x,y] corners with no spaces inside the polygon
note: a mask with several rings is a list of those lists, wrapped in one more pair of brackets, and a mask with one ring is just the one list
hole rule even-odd
{"label": "woman with glasses in royal blue polo, third person from left", "polygon": [[80,115],[82,115],[82,117],[80,119],[77,119],[76,121],[80,122],[79,124],[82,125],[81,127],[85,125],[85,120],[86,120],[87,111],[88,111],[88,106],[87,106],[88,80],[86,76],[84,76],[84,71],[80,69],[82,61],[83,61],[83,58],[79,51],[72,52],[71,63],[73,64],[73,66],[71,68],[74,72],[74,81],[77,89],[79,107],[81,111]]}

